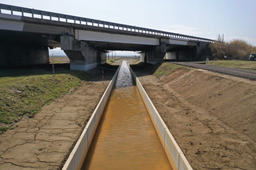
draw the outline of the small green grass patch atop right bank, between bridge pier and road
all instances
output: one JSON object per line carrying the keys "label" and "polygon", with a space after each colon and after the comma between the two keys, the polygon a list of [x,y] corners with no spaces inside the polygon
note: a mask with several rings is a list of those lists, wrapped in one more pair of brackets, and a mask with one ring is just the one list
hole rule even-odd
{"label": "small green grass patch atop right bank, between bridge pier and road", "polygon": [[153,74],[157,77],[163,77],[171,74],[172,72],[184,68],[186,71],[189,71],[189,68],[182,66],[182,65],[176,65],[169,62],[160,62],[154,66],[154,72]]}

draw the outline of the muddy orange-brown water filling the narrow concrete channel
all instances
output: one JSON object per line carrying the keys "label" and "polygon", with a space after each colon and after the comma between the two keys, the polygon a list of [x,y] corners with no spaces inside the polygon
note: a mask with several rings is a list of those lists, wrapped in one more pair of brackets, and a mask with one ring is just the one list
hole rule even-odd
{"label": "muddy orange-brown water filling the narrow concrete channel", "polygon": [[172,170],[123,61],[81,170],[131,169]]}

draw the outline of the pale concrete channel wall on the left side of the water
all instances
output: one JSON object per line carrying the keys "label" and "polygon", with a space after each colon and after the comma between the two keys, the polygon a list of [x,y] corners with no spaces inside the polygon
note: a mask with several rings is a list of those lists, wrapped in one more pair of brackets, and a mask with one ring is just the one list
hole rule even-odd
{"label": "pale concrete channel wall on the left side of the water", "polygon": [[93,140],[94,133],[99,124],[99,120],[104,111],[105,105],[108,102],[108,97],[110,96],[113,85],[115,84],[116,76],[119,72],[120,66],[121,64],[119,65],[119,68],[116,70],[116,73],[111,79],[111,82],[109,83],[108,88],[106,89],[105,93],[100,99],[98,105],[93,111],[92,116],[90,117],[87,125],[85,126],[83,132],[81,133],[81,136],[76,142],[76,145],[73,148],[72,152],[70,153],[70,156],[68,157],[62,170],[80,170],[81,169],[85,156],[87,154],[87,151]]}

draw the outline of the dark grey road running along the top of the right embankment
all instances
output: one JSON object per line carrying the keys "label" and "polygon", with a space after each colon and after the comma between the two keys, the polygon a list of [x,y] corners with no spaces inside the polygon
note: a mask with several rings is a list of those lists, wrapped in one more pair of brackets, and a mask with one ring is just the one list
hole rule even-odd
{"label": "dark grey road running along the top of the right embankment", "polygon": [[205,65],[205,64],[198,64],[193,62],[171,62],[178,65],[185,65],[193,68],[200,68],[208,71],[215,71],[218,73],[228,74],[231,76],[236,77],[243,77],[246,79],[253,79],[256,80],[256,72],[255,71],[247,71],[242,70],[239,68],[230,68],[230,67],[221,67],[218,65]]}

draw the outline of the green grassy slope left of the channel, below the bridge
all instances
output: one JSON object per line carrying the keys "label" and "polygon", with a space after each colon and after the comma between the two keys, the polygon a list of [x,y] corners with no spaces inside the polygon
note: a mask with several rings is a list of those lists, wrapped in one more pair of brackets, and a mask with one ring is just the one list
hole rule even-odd
{"label": "green grassy slope left of the channel, below the bridge", "polygon": [[70,93],[86,78],[84,71],[5,69],[0,71],[0,133],[24,117],[33,117],[41,107]]}

